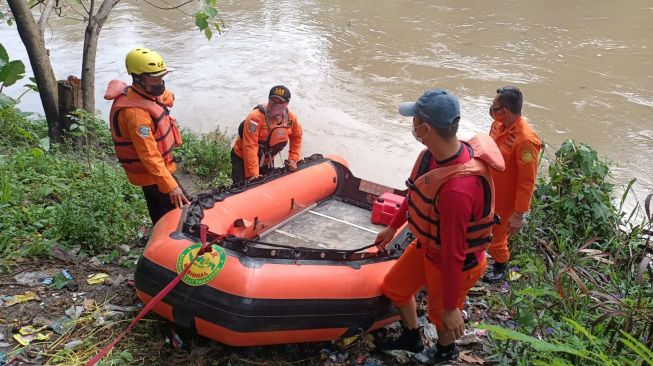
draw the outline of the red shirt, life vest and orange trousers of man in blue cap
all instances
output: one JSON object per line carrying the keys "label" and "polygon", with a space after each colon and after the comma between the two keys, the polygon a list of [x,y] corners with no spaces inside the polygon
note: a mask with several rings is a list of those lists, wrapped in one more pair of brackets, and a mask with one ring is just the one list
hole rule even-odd
{"label": "red shirt, life vest and orange trousers of man in blue cap", "polygon": [[[415,162],[407,185],[408,226],[416,239],[390,269],[381,288],[394,306],[403,307],[415,292],[426,285],[429,319],[438,331],[443,330],[443,312],[462,309],[467,292],[485,272],[487,262],[484,249],[489,242],[491,226],[495,223],[494,187],[489,167],[498,170],[504,168],[501,153],[489,136],[479,134],[470,139],[468,145],[462,144],[462,153],[455,155],[454,160],[447,159],[448,162],[432,170],[424,171],[425,153]],[[476,177],[481,179],[470,179]],[[482,184],[484,188],[477,184],[480,181],[485,182]],[[462,220],[468,221],[458,225],[452,218],[444,224],[447,227],[441,228],[443,217],[439,209],[442,208],[445,193],[449,195],[447,200],[451,201],[454,197],[462,197],[454,194],[463,187],[470,194],[467,196],[467,209],[471,210],[471,215],[464,212],[463,204],[454,207],[460,207],[460,212],[443,210],[442,214],[444,218],[464,214]],[[395,219],[392,221],[395,222]],[[450,231],[452,237],[441,238]],[[457,234],[457,239],[453,238],[453,234]],[[464,263],[460,259],[459,266],[451,265],[455,262],[454,247],[467,254]],[[448,254],[443,256],[445,248]]]}

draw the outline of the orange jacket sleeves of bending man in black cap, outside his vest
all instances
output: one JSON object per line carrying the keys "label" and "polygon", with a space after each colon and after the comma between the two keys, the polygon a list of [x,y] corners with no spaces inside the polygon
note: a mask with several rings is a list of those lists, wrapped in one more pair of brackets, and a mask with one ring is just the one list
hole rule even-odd
{"label": "orange jacket sleeves of bending man in black cap, outside his vest", "polygon": [[[272,126],[270,118],[266,118],[261,109],[265,105],[258,106],[251,111],[243,122],[242,137],[238,137],[234,144],[234,153],[238,155],[245,163],[245,178],[252,178],[260,173],[260,168],[271,161],[270,158],[263,158],[262,151],[259,151],[259,144],[264,143],[270,130],[276,130],[281,126]],[[299,161],[302,147],[302,126],[299,124],[297,116],[288,111],[286,123],[286,136],[290,140],[290,151],[288,159]],[[274,158],[274,155],[272,155]]]}

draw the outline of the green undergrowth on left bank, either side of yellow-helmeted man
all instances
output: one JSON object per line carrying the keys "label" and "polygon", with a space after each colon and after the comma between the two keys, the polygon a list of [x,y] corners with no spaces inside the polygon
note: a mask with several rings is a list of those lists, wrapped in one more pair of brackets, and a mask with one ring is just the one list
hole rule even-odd
{"label": "green undergrowth on left bank, either side of yellow-helmeted man", "polygon": [[[50,146],[45,121],[0,109],[0,267],[49,255],[55,244],[111,253],[150,225],[140,188],[115,163],[107,124],[84,111],[75,120],[66,142]],[[230,182],[223,133],[184,139],[182,173],[202,187]]]}

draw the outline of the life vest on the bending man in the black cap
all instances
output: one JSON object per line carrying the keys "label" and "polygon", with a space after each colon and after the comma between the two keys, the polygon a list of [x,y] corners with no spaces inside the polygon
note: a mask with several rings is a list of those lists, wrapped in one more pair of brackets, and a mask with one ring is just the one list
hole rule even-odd
{"label": "life vest on the bending man in the black cap", "polygon": [[[259,110],[265,118],[265,124],[268,128],[268,135],[264,140],[259,140],[258,143],[258,158],[259,166],[271,167],[275,155],[281,152],[286,145],[288,145],[288,129],[292,128],[293,121],[289,118],[288,109],[284,111],[283,122],[273,125],[272,116],[267,111],[264,105],[259,104],[254,107],[254,110]],[[240,122],[238,126],[238,135],[243,138],[243,128],[245,121]]]}

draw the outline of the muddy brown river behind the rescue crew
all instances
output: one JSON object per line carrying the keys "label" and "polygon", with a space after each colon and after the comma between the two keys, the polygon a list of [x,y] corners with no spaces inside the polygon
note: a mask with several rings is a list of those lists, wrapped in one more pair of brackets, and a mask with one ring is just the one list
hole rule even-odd
{"label": "muddy brown river behind the rescue crew", "polygon": [[[586,142],[615,162],[617,182],[638,179],[640,200],[653,188],[653,1],[218,5],[225,29],[207,42],[183,12],[122,1],[98,46],[101,115],[110,107],[102,100],[106,83],[127,80],[125,54],[145,45],[176,69],[167,85],[182,126],[234,134],[270,87],[283,83],[304,126],[304,155],[339,154],[354,174],[401,187],[421,147],[410,120],[396,113],[400,102],[449,89],[461,99],[462,135],[469,136],[488,130],[496,88],[516,85],[549,154],[565,139]],[[27,64],[15,26],[2,24],[0,39]],[[53,20],[46,39],[57,77],[80,75],[83,27]],[[20,107],[38,112],[38,96],[28,94]]]}

